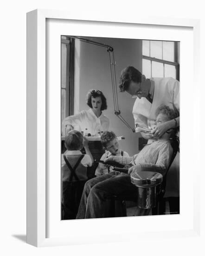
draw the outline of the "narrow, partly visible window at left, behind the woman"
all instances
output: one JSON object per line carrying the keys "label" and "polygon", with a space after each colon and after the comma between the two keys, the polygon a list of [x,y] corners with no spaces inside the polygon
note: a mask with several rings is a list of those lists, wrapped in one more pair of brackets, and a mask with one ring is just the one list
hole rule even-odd
{"label": "narrow, partly visible window at left, behind the woman", "polygon": [[74,108],[74,40],[61,36],[61,120],[73,115]]}

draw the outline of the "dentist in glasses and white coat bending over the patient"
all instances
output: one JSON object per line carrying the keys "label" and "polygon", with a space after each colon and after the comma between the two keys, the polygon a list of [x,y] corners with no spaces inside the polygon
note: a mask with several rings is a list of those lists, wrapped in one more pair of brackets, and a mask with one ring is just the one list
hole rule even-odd
{"label": "dentist in glasses and white coat bending over the patient", "polygon": [[179,127],[179,117],[158,124],[150,132],[137,127],[137,124],[151,128],[156,120],[156,109],[160,105],[167,105],[179,111],[179,81],[172,77],[147,79],[135,67],[122,70],[119,81],[121,92],[126,91],[132,98],[136,98],[133,106],[135,132],[141,132],[143,138],[160,138],[167,130]]}

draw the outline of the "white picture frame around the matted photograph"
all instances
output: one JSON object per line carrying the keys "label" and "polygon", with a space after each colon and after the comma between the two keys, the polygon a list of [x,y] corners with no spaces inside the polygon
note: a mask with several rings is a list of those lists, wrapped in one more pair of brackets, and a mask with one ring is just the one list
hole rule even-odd
{"label": "white picture frame around the matted photograph", "polygon": [[[133,24],[141,24],[146,26],[175,26],[175,27],[190,27],[193,30],[193,63],[192,63],[192,73],[195,78],[196,91],[200,91],[199,86],[199,34],[200,34],[200,21],[199,20],[189,20],[189,19],[169,19],[164,17],[152,17],[152,18],[142,18],[140,16],[132,18],[129,20],[112,19],[110,18],[105,20],[92,19],[92,17],[84,16],[77,17],[76,15],[70,15],[63,11],[54,11],[54,10],[34,10],[30,13],[27,13],[27,243],[32,244],[37,247],[42,246],[51,246],[51,245],[70,245],[70,244],[81,244],[81,243],[104,243],[108,241],[119,242],[122,241],[123,232],[126,234],[132,234],[139,239],[145,239],[147,237],[153,236],[153,230],[146,228],[145,232],[137,232],[131,228],[126,229],[125,231],[112,233],[113,238],[111,240],[103,239],[102,237],[95,236],[90,232],[85,237],[85,233],[81,236],[74,232],[73,236],[52,236],[47,237],[46,225],[48,220],[46,219],[46,141],[48,139],[46,132],[46,20],[47,19],[58,19],[61,20],[78,20],[79,22],[106,22],[106,25],[109,24],[127,24],[129,26]],[[197,95],[192,95],[194,101],[194,111],[200,113],[199,99]],[[186,103],[186,102],[185,102]],[[191,114],[191,113],[190,113]],[[180,116],[180,119],[183,122],[183,116]],[[195,131],[200,133],[199,128],[199,116],[194,116],[194,125],[193,128]],[[182,127],[183,130],[183,127]],[[195,132],[196,134],[196,132]],[[200,156],[200,147],[199,141],[197,141],[196,135],[193,134],[192,140],[196,150],[194,152],[194,162],[199,162]],[[182,135],[183,141],[183,135]],[[185,141],[185,140],[184,140]],[[193,141],[190,142],[192,146]],[[194,162],[190,166],[193,166]],[[190,167],[191,168],[191,167]],[[196,170],[195,175],[199,177],[199,168]],[[198,236],[200,232],[200,218],[199,218],[199,184],[193,182],[193,212],[192,212],[192,225],[191,228],[187,227],[184,229],[178,230],[166,230],[157,231],[154,233],[154,236],[157,236],[159,239],[161,237],[167,236],[173,238],[176,236]],[[155,220],[163,218],[163,216],[154,216]],[[172,216],[173,217],[173,216]],[[189,216],[190,217],[190,216]],[[91,222],[92,221],[92,222]],[[103,222],[102,222],[103,221]],[[102,225],[105,220],[101,220]],[[111,220],[107,219],[107,224],[110,225]],[[133,220],[132,220],[133,221]],[[167,221],[167,220],[166,220]],[[170,220],[169,220],[170,221]],[[81,221],[80,221],[81,222]],[[98,224],[100,220],[85,220],[80,223],[80,225],[87,229],[88,225],[93,225],[93,223]],[[112,220],[115,222],[115,225],[119,222],[119,219]],[[129,218],[126,221],[127,223],[123,224],[128,226],[130,223]],[[79,223],[79,222],[78,222]],[[148,222],[147,222],[148,223]],[[94,224],[94,225],[95,225]],[[73,230],[75,222],[70,222],[70,229]],[[79,229],[79,225],[78,225]],[[123,228],[122,228],[123,229]],[[88,233],[89,233],[88,232]],[[104,234],[106,230],[103,231]],[[115,236],[114,236],[115,235]],[[90,238],[92,237],[92,240]],[[127,239],[130,241],[132,238]],[[109,238],[110,239],[110,238]],[[92,242],[90,242],[92,241]]]}

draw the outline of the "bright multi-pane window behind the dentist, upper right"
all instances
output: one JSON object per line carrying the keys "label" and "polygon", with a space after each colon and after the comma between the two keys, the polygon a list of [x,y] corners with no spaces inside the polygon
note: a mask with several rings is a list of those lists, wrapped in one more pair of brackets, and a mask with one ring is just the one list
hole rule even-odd
{"label": "bright multi-pane window behind the dentist, upper right", "polygon": [[179,81],[179,42],[142,40],[142,73]]}

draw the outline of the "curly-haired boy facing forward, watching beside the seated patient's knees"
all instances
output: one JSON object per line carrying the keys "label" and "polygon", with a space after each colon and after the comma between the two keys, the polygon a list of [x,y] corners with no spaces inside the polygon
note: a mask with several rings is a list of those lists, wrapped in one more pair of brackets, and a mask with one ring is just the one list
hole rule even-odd
{"label": "curly-haired boy facing forward, watching beside the seated patient's knees", "polygon": [[[106,150],[106,152],[102,155],[100,160],[104,161],[106,158],[110,156],[129,156],[127,152],[122,151],[120,149],[118,139],[114,132],[112,131],[103,132],[100,140],[101,140],[102,146]],[[112,172],[112,171],[113,171],[112,166],[99,163],[98,167],[96,168],[95,175],[98,176],[98,175],[108,174],[109,172]]]}

